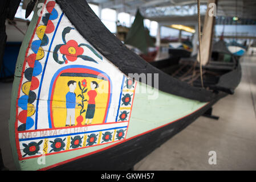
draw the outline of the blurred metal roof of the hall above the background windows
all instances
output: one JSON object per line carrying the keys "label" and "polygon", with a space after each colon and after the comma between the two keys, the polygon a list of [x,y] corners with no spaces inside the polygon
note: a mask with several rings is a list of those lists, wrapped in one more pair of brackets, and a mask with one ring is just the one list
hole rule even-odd
{"label": "blurred metal roof of the hall above the background windows", "polygon": [[[176,16],[196,16],[197,0],[87,0],[99,5],[101,9],[115,9],[135,15],[139,8],[148,19],[162,22],[175,19]],[[201,14],[206,11],[207,0],[201,0]],[[256,1],[252,0],[218,0],[217,16],[256,20]]]}

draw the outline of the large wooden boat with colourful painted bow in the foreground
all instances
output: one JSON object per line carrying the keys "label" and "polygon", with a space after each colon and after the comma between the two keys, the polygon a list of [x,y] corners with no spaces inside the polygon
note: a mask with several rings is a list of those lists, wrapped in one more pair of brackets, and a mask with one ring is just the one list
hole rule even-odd
{"label": "large wooden boat with colourful painted bow in the foreground", "polygon": [[[229,70],[204,68],[216,82],[193,86],[129,51],[86,1],[42,3],[13,83],[9,127],[18,169],[130,169],[239,84],[237,60]],[[158,75],[159,86],[129,74]],[[138,91],[147,84],[157,98]]]}

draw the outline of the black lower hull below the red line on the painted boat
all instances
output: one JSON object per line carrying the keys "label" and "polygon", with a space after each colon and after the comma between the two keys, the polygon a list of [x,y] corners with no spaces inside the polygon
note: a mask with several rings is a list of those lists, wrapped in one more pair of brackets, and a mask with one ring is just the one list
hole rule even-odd
{"label": "black lower hull below the red line on the painted boat", "polygon": [[202,107],[200,110],[160,129],[129,139],[124,143],[97,152],[96,154],[50,168],[49,170],[129,170],[141,159],[145,158],[145,156],[160,147],[161,144],[185,129],[185,127],[190,125],[226,95],[224,92],[219,93],[215,100],[209,102],[208,105]]}

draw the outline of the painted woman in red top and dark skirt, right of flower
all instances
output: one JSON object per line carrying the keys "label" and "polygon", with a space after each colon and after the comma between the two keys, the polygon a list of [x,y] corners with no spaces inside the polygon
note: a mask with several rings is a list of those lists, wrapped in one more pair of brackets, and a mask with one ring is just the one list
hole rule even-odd
{"label": "painted woman in red top and dark skirt, right of flower", "polygon": [[92,118],[94,118],[95,113],[95,97],[97,96],[97,92],[95,91],[96,88],[98,88],[99,85],[96,81],[91,82],[91,90],[87,93],[89,96],[88,99],[88,107],[86,111],[86,125],[89,122],[89,125],[92,123]]}

